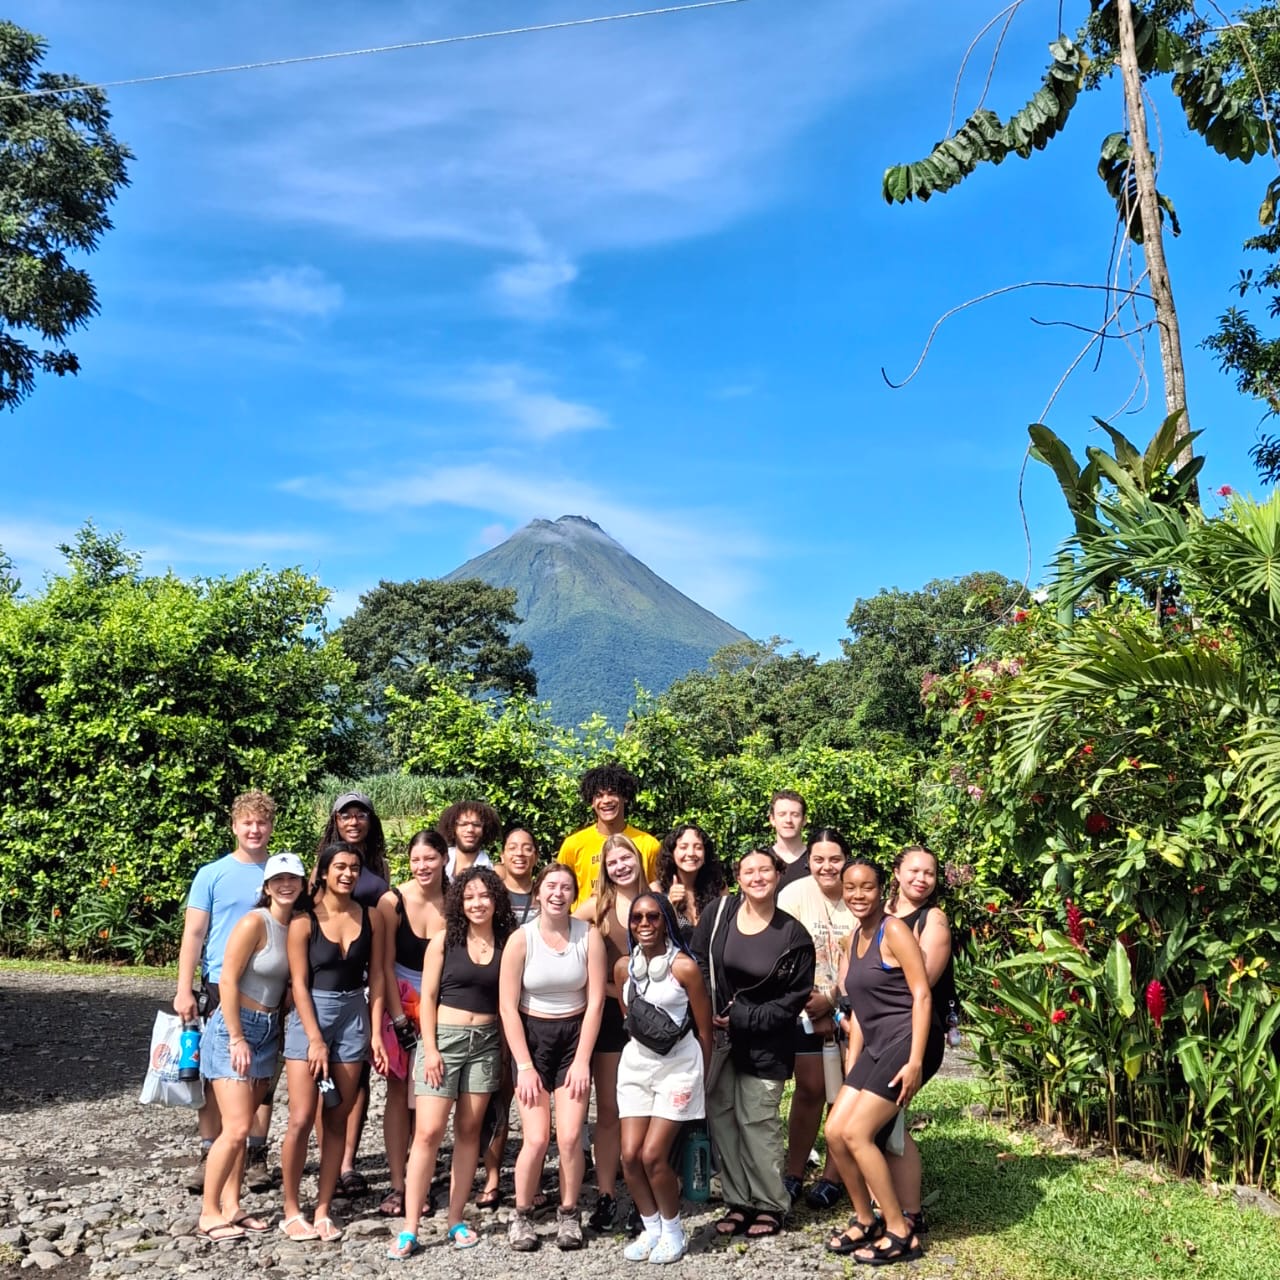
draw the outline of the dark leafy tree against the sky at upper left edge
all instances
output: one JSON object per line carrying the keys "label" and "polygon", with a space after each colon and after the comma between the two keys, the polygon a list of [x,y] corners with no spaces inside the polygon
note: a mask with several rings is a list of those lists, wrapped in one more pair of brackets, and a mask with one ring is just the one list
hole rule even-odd
{"label": "dark leafy tree against the sky at upper left edge", "polygon": [[[97,314],[88,253],[111,227],[129,150],[108,129],[106,95],[38,70],[45,42],[0,22],[0,404],[15,408],[36,372],[74,374],[64,339]],[[52,343],[44,351],[32,338]]]}

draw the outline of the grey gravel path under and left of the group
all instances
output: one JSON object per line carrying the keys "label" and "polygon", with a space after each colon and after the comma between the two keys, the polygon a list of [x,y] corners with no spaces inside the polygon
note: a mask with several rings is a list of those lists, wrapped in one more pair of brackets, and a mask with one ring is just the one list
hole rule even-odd
{"label": "grey gravel path under and left of the group", "polygon": [[[0,973],[0,1276],[49,1270],[58,1280],[140,1274],[221,1280],[262,1270],[274,1277],[337,1280],[406,1270],[385,1258],[396,1222],[376,1213],[388,1187],[376,1078],[360,1161],[371,1190],[358,1201],[335,1202],[334,1216],[344,1229],[338,1244],[291,1244],[275,1231],[221,1245],[196,1238],[198,1201],[186,1190],[195,1116],[137,1102],[155,1011],[168,1007],[172,996],[172,983],[163,979]],[[280,1126],[283,1082],[276,1101]],[[278,1160],[276,1129],[271,1152]],[[515,1142],[508,1160],[513,1156]],[[312,1160],[303,1203],[314,1176]],[[503,1189],[509,1204],[509,1169]],[[584,1190],[584,1207],[588,1194]],[[274,1224],[280,1216],[279,1193],[247,1193],[244,1208]],[[828,1225],[841,1220],[841,1212],[817,1216],[801,1208],[791,1230],[746,1245],[713,1238],[712,1222],[721,1212],[714,1201],[686,1210],[691,1249],[668,1268],[673,1277],[785,1280],[846,1274],[842,1261],[822,1248]],[[547,1240],[538,1253],[515,1254],[506,1242],[507,1212],[471,1216],[484,1238],[468,1253],[444,1247],[443,1215],[425,1220],[425,1252],[407,1270],[449,1277],[479,1271],[486,1280],[529,1274],[588,1280],[602,1267],[636,1270],[622,1258],[621,1235],[588,1231],[588,1247],[580,1253],[561,1253]],[[553,1220],[541,1230],[553,1231]],[[948,1275],[951,1263],[940,1254],[909,1271],[929,1280]]]}

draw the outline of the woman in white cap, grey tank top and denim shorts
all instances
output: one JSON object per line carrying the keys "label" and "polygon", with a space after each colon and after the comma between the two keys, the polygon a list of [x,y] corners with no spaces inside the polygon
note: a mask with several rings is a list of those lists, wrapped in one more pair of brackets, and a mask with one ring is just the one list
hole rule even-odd
{"label": "woman in white cap, grey tank top and denim shorts", "polygon": [[[285,948],[289,920],[306,891],[302,859],[273,854],[262,867],[257,906],[232,929],[219,979],[221,1002],[200,1041],[201,1075],[223,1117],[209,1149],[198,1234],[237,1240],[265,1231],[260,1217],[241,1212],[244,1139],[275,1073],[280,1048],[280,1001],[289,979]],[[236,1174],[239,1166],[239,1176]]]}

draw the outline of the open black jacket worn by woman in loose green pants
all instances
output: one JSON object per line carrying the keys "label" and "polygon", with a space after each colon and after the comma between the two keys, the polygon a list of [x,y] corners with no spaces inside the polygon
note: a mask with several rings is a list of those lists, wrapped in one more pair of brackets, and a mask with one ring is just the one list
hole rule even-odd
{"label": "open black jacket worn by woman in loose green pants", "polygon": [[[716,916],[719,904],[708,904],[691,943],[707,991],[712,989],[710,965],[716,965],[716,1014],[728,1007],[728,1034],[735,1070],[762,1080],[785,1080],[795,1069],[796,1020],[813,991],[813,938],[795,916],[774,911],[782,931],[783,952],[769,975],[750,987],[733,989],[724,973],[724,943],[742,908],[739,896],[719,900],[724,914],[719,929]],[[712,933],[716,943],[712,947]]]}

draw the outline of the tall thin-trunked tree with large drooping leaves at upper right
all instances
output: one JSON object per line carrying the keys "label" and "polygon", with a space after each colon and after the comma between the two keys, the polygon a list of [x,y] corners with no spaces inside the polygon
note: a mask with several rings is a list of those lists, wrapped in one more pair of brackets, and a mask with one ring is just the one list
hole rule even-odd
{"label": "tall thin-trunked tree with large drooping leaves at upper right", "polygon": [[[1009,12],[1009,10],[1006,10]],[[1010,18],[1011,18],[1010,12]],[[1146,270],[1133,282],[1128,298],[1110,314],[1096,340],[1137,302],[1146,280],[1153,306],[1165,381],[1166,416],[1180,415],[1180,436],[1189,435],[1187,388],[1179,338],[1178,310],[1165,266],[1162,224],[1167,216],[1174,233],[1178,221],[1172,202],[1156,189],[1156,161],[1147,140],[1143,79],[1172,74],[1188,125],[1215,151],[1230,159],[1252,160],[1271,147],[1262,115],[1228,93],[1220,68],[1211,56],[1215,41],[1187,0],[1091,0],[1089,15],[1075,38],[1060,35],[1050,46],[1053,61],[1039,90],[1007,122],[986,108],[975,110],[950,137],[914,164],[893,165],[884,173],[884,198],[928,200],[961,182],[980,163],[1000,164],[1011,155],[1027,159],[1043,150],[1066,125],[1082,88],[1093,88],[1120,69],[1128,128],[1102,140],[1098,174],[1116,202],[1123,234],[1142,246]],[[1178,463],[1192,461],[1190,445]]]}

